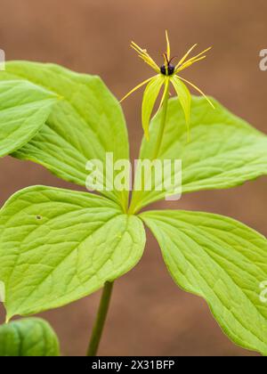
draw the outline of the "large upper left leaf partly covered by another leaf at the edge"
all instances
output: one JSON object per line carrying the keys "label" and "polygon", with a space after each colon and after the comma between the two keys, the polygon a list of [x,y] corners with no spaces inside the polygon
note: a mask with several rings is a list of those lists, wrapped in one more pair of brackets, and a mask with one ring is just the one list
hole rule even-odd
{"label": "large upper left leaf partly covered by another leaf at the edge", "polygon": [[[41,131],[14,157],[39,163],[62,179],[82,186],[89,175],[85,169],[88,160],[101,160],[105,173],[110,169],[109,165],[106,168],[107,152],[113,153],[114,162],[129,159],[121,106],[100,77],[27,61],[8,62],[5,68],[0,80],[28,80],[62,98]],[[119,170],[115,171],[114,177],[118,173]],[[126,207],[128,191],[114,190],[112,175],[108,175],[108,183],[105,179],[101,193]],[[111,191],[106,191],[107,184],[111,184]]]}

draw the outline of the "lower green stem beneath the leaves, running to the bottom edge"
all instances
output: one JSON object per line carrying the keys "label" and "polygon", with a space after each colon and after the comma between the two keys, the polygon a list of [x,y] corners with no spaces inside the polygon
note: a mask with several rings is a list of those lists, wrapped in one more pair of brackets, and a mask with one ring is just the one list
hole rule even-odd
{"label": "lower green stem beneath the leaves, running to the bottom edge", "polygon": [[107,281],[102,291],[101,303],[98,309],[96,320],[93,325],[92,337],[88,346],[87,356],[96,356],[101,341],[101,335],[109,310],[109,302],[112,293],[113,282]]}

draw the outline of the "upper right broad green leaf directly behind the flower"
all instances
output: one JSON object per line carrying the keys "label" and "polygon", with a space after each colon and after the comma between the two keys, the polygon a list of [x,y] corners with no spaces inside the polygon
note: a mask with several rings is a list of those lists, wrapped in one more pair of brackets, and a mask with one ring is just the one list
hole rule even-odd
{"label": "upper right broad green leaf directly behind the flower", "polygon": [[[183,193],[230,188],[267,175],[266,135],[211,100],[215,110],[205,98],[192,97],[190,142],[177,98],[169,101],[158,159],[182,159]],[[153,158],[161,114],[150,124],[150,142],[143,140],[140,159]],[[134,191],[135,211],[166,197],[152,183],[152,191]]]}

